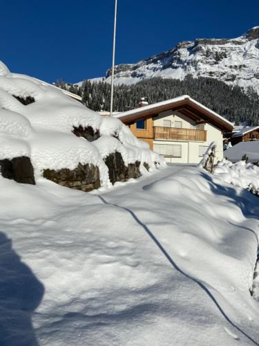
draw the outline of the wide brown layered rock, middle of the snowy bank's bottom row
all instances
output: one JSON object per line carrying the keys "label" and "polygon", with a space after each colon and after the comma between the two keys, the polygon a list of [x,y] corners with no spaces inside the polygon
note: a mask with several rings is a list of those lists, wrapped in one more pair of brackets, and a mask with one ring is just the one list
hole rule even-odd
{"label": "wide brown layered rock, middle of the snowy bank's bottom row", "polygon": [[67,188],[89,192],[101,186],[99,168],[94,165],[81,163],[75,170],[62,168],[61,170],[44,170],[44,178]]}

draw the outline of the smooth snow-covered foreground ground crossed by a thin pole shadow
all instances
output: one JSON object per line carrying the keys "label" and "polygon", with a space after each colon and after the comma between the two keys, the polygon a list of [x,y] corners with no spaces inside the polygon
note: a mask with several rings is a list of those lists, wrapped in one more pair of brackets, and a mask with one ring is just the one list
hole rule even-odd
{"label": "smooth snow-covered foreground ground crossed by a thin pole shadow", "polygon": [[253,194],[179,165],[0,191],[1,345],[258,345]]}

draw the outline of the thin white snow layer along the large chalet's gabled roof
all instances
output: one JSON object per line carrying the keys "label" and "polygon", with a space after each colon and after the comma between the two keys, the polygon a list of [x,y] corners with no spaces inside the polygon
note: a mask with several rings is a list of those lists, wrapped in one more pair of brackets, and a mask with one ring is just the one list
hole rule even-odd
{"label": "thin white snow layer along the large chalet's gabled roof", "polygon": [[182,96],[178,96],[177,98],[172,98],[171,100],[156,102],[156,103],[153,103],[153,104],[148,104],[147,106],[144,106],[144,107],[138,107],[138,108],[135,108],[135,109],[131,109],[130,111],[124,111],[122,113],[116,114],[114,117],[122,119],[122,118],[124,118],[126,116],[132,116],[133,114],[138,113],[140,111],[142,111],[142,112],[143,111],[148,111],[149,109],[153,109],[153,108],[156,108],[156,107],[162,107],[162,106],[165,106],[166,104],[174,104],[175,102],[179,102],[179,101],[183,101],[183,100],[190,100],[191,102],[193,102],[194,104],[197,104],[199,107],[201,107],[205,111],[209,111],[209,113],[211,113],[216,118],[218,118],[221,121],[224,121],[225,123],[227,123],[227,125],[231,125],[231,127],[233,127],[232,122],[230,122],[229,120],[223,118],[222,116],[220,116],[220,114],[215,113],[214,111],[212,111],[208,107],[205,107],[204,104],[201,104],[200,102],[193,100],[193,98],[191,98],[189,95],[182,95]]}

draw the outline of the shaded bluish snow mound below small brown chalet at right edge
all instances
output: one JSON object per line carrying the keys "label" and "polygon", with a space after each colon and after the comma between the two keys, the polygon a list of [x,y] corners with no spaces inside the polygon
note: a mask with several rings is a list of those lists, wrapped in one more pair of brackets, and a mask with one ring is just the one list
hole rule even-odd
{"label": "shaded bluish snow mound below small brown chalet at right edge", "polygon": [[244,154],[247,154],[251,162],[259,161],[259,140],[240,142],[224,151],[224,156],[232,162],[240,161]]}

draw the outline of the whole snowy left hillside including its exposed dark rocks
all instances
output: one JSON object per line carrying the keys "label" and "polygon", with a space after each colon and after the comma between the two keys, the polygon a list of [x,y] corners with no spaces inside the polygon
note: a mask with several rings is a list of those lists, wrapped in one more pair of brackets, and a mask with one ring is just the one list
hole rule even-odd
{"label": "whole snowy left hillside including its exposed dark rocks", "polygon": [[137,178],[144,163],[150,170],[162,163],[120,120],[102,118],[57,88],[10,73],[0,62],[3,176],[15,175],[16,165],[23,170],[24,160],[31,183],[44,175],[84,191]]}

